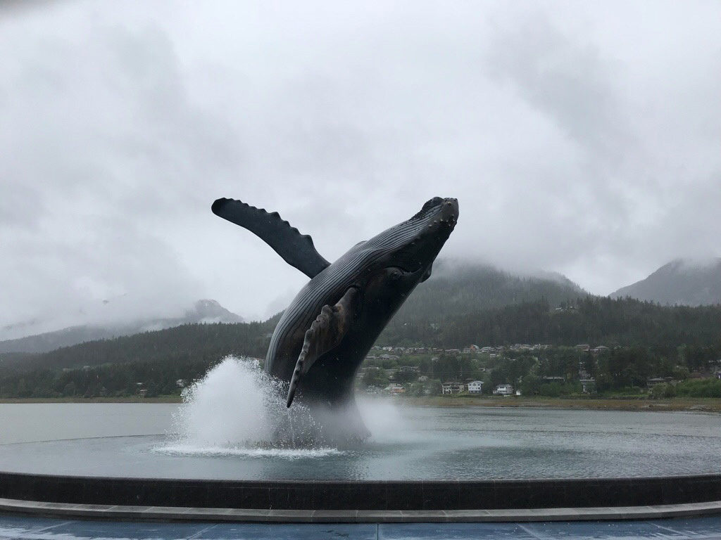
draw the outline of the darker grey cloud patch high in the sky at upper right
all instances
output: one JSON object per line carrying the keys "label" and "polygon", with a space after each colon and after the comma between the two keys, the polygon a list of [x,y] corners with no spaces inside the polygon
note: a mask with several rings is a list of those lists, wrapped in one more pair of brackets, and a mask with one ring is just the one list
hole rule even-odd
{"label": "darker grey cloud patch high in the sky at upper right", "polygon": [[632,142],[627,109],[617,88],[622,63],[603,58],[590,40],[564,35],[536,12],[497,33],[489,51],[490,73],[596,159],[619,158]]}

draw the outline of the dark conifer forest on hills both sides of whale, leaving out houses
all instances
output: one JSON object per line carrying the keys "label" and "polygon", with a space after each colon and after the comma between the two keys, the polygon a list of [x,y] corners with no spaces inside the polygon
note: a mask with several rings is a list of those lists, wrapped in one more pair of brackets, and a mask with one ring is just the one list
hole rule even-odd
{"label": "dark conifer forest on hills both sides of whale, leaving out houses", "polygon": [[[177,393],[177,379],[197,379],[228,354],[265,356],[277,320],[276,315],[265,323],[185,325],[82,343],[45,354],[0,355],[0,397],[132,395],[137,382],[143,382],[149,395]],[[614,389],[637,384],[645,377],[664,375],[677,365],[689,372],[707,372],[709,366],[719,365],[721,306],[665,307],[595,297],[562,307],[544,301],[527,302],[443,318],[435,316],[432,321],[394,320],[379,338],[381,345],[446,349],[470,343],[544,343],[561,347],[558,350],[562,352],[575,351],[568,346],[580,343],[606,345],[612,361],[608,366],[598,364],[598,369],[603,368],[598,373],[607,371],[608,381],[604,384]],[[571,355],[570,366],[578,366],[575,354]],[[513,364],[513,359],[508,361]],[[659,366],[665,367],[661,370]],[[494,372],[495,378],[489,382],[508,375],[503,369]],[[596,374],[590,364],[588,369]],[[464,372],[469,373],[467,369]]]}

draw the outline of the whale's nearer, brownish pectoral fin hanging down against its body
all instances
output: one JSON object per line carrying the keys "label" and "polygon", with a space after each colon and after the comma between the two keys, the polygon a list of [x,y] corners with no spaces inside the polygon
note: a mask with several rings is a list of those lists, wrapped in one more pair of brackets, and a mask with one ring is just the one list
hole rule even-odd
{"label": "whale's nearer, brownish pectoral fin hanging down against its body", "polygon": [[324,305],[320,315],[311,323],[311,328],[306,331],[303,340],[301,354],[296,361],[296,369],[293,370],[286,406],[291,406],[301,377],[308,373],[320,356],[340,345],[345,334],[348,333],[355,320],[357,299],[358,289],[351,287],[336,305],[332,307]]}

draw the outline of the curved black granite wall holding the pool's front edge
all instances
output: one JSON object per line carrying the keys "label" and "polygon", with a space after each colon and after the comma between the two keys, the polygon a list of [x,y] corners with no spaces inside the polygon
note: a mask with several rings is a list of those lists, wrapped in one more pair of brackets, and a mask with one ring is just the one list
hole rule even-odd
{"label": "curved black granite wall holding the pool's front edge", "polygon": [[721,474],[550,480],[255,482],[0,472],[0,498],[274,510],[583,508],[721,500]]}

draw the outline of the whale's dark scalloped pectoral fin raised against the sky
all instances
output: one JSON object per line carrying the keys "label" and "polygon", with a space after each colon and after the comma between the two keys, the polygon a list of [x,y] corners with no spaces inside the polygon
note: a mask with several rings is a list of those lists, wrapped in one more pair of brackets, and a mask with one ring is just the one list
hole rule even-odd
{"label": "whale's dark scalloped pectoral fin raised against the sky", "polygon": [[213,214],[246,228],[273,248],[278,255],[309,278],[321,273],[330,263],[316,251],[313,238],[301,235],[284,221],[278,212],[269,214],[235,199],[218,199],[211,207]]}

